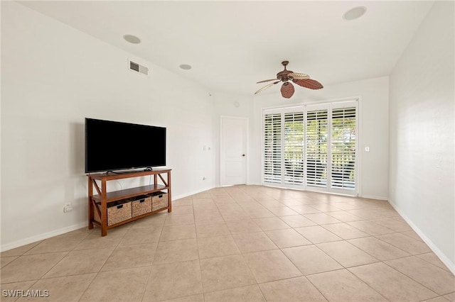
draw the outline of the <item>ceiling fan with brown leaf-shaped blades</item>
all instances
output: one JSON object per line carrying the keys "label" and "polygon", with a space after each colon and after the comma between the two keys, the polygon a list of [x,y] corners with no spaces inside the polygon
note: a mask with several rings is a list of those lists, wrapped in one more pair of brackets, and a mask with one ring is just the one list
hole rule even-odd
{"label": "ceiling fan with brown leaf-shaped blades", "polygon": [[309,89],[323,88],[321,83],[319,83],[318,81],[316,81],[314,79],[310,79],[308,74],[301,74],[301,73],[297,73],[297,72],[291,72],[291,70],[287,70],[286,66],[288,64],[289,64],[288,61],[282,62],[282,65],[284,66],[284,70],[282,72],[277,73],[277,79],[265,79],[264,81],[257,82],[256,84],[275,81],[271,84],[268,84],[268,85],[262,87],[261,89],[256,91],[255,94],[259,94],[260,92],[272,87],[274,84],[278,84],[279,82],[283,82],[282,88],[280,89],[280,91],[282,92],[282,96],[286,99],[289,99],[294,94],[294,85],[292,85],[291,82],[294,82],[295,84],[297,84],[299,86],[309,88]]}

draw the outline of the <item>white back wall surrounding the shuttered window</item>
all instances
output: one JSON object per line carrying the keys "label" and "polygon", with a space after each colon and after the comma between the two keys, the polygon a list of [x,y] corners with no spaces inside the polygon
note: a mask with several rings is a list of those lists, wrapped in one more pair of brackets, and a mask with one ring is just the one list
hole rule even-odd
{"label": "white back wall surrounding the shuttered window", "polygon": [[[252,181],[261,183],[261,131],[262,108],[311,104],[339,99],[360,98],[359,101],[359,195],[365,198],[387,200],[388,190],[388,77],[365,79],[337,85],[327,85],[320,90],[296,86],[291,99],[277,94],[264,94],[254,99],[254,134],[251,145],[255,146],[254,174]],[[279,91],[279,86],[270,89]],[[365,152],[365,146],[370,152]]]}

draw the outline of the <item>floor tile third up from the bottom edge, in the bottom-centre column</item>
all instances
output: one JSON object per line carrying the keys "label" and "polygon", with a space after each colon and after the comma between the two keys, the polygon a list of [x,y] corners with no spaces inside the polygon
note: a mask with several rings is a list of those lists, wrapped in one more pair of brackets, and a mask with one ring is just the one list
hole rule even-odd
{"label": "floor tile third up from the bottom edge, in the bottom-centre column", "polygon": [[240,254],[231,235],[198,238],[198,250],[200,259]]}

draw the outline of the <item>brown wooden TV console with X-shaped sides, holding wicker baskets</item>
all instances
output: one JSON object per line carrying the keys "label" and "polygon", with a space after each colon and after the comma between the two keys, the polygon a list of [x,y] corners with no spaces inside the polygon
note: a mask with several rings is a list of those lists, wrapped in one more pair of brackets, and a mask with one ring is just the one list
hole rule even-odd
{"label": "brown wooden TV console with X-shaped sides, holding wicker baskets", "polygon": [[[163,175],[166,174],[164,177]],[[133,177],[145,177],[153,175],[154,183],[146,186],[139,186],[131,189],[123,189],[120,191],[110,191],[106,190],[107,181],[118,180],[118,179],[128,179]],[[139,172],[122,172],[119,174],[113,173],[99,173],[99,174],[88,174],[88,228],[92,229],[93,225],[98,225],[101,228],[101,235],[107,235],[107,229],[115,228],[116,226],[123,225],[125,223],[132,222],[134,220],[150,216],[154,213],[160,211],[168,210],[170,213],[172,211],[171,206],[171,169],[152,169],[150,171],[139,171]],[[158,183],[158,177],[161,179],[163,184]],[[94,190],[95,188],[95,194]],[[133,198],[136,196],[141,196],[145,194],[153,194],[155,192],[167,191],[168,196],[168,206],[160,208],[156,211],[151,211],[149,213],[142,214],[127,220],[123,220],[119,223],[114,223],[108,225],[107,223],[107,203],[113,201],[121,201],[127,198]],[[101,221],[95,220],[95,211],[97,211],[97,217]]]}

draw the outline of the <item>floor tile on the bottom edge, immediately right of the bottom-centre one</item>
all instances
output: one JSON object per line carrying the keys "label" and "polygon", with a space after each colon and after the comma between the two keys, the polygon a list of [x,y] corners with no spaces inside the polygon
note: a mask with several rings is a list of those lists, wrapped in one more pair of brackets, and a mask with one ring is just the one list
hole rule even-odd
{"label": "floor tile on the bottom edge, immediately right of the bottom-centre one", "polygon": [[304,276],[259,284],[267,302],[327,301]]}

